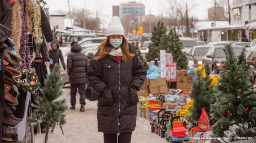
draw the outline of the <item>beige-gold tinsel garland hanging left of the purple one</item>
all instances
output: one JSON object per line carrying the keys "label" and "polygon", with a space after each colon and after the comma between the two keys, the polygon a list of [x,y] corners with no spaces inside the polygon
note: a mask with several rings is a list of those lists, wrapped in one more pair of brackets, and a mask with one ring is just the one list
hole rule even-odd
{"label": "beige-gold tinsel garland hanging left of the purple one", "polygon": [[12,39],[14,40],[14,45],[16,48],[16,52],[19,55],[20,49],[20,39],[22,34],[22,17],[21,17],[21,6],[18,0],[14,1],[12,5]]}

